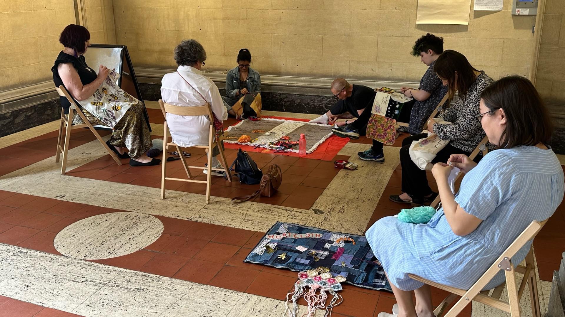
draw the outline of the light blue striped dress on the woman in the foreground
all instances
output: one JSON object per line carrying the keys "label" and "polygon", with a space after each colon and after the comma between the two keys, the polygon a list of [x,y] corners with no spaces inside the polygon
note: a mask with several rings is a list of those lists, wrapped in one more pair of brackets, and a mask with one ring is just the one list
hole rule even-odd
{"label": "light blue striped dress on the woman in the foreground", "polygon": [[[551,149],[521,146],[489,152],[463,178],[455,200],[483,222],[466,236],[451,230],[443,209],[425,224],[377,221],[366,232],[390,283],[402,290],[423,284],[408,273],[468,289],[533,220],[549,218],[563,200],[565,180]],[[531,243],[512,258],[520,263]],[[485,289],[501,284],[501,271]]]}

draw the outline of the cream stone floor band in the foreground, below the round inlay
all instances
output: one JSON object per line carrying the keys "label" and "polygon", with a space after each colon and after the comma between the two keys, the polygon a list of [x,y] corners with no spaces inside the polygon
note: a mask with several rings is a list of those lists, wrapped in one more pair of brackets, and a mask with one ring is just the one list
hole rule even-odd
{"label": "cream stone floor band in the foreground, below the round inlay", "polygon": [[[14,250],[0,244],[0,254]],[[0,295],[86,317],[271,317],[285,307],[272,298],[25,248],[0,260],[0,270]]]}

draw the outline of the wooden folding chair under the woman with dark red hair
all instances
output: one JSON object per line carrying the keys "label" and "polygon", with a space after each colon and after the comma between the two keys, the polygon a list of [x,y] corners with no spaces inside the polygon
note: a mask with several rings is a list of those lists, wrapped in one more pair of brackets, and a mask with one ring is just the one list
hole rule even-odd
{"label": "wooden folding chair under the woman with dark red hair", "polygon": [[[67,170],[66,170],[67,169],[67,154],[68,154],[69,140],[71,139],[71,130],[80,129],[81,127],[88,127],[88,129],[90,129],[90,131],[92,131],[92,133],[94,134],[94,137],[96,137],[100,141],[100,143],[106,149],[106,151],[108,153],[110,153],[110,156],[112,158],[114,158],[114,161],[116,161],[116,163],[118,165],[121,165],[120,158],[118,158],[116,153],[114,153],[114,151],[112,151],[108,147],[108,144],[106,144],[106,142],[104,142],[104,140],[102,139],[100,134],[98,134],[98,132],[94,129],[92,124],[86,119],[86,116],[84,115],[84,113],[82,113],[80,108],[77,107],[75,100],[72,99],[72,97],[68,93],[67,89],[65,89],[65,87],[63,85],[60,85],[59,87],[55,87],[55,90],[57,91],[59,96],[67,98],[69,103],[71,103],[71,106],[69,107],[69,114],[68,114],[67,117],[65,117],[64,109],[61,109],[61,119],[60,119],[60,122],[59,122],[59,137],[57,138],[57,152],[55,154],[55,162],[59,162],[59,156],[60,156],[61,153],[63,153],[63,163],[61,165],[61,174],[67,173]],[[75,112],[79,114],[82,121],[84,121],[84,124],[78,124],[78,125],[72,124],[72,118],[75,115]],[[65,129],[64,145],[62,144],[63,143],[63,128]]]}

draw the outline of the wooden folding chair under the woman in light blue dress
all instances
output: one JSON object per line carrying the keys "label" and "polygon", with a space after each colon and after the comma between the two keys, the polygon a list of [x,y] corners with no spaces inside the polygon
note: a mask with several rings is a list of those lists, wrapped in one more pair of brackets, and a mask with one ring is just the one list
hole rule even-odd
{"label": "wooden folding chair under the woman in light blue dress", "polygon": [[[534,264],[533,249],[530,248],[528,255],[525,258],[526,266],[518,265],[512,263],[512,257],[515,256],[516,252],[522,248],[528,241],[531,241],[540,232],[541,228],[547,222],[547,219],[538,222],[532,221],[525,228],[525,230],[510,244],[510,246],[498,257],[498,259],[493,263],[492,266],[486,270],[486,272],[481,276],[473,286],[468,289],[459,289],[454,287],[449,287],[446,285],[438,284],[434,281],[430,281],[424,278],[420,278],[418,275],[408,274],[411,279],[420,281],[424,284],[431,285],[433,287],[446,290],[451,294],[445,298],[443,302],[434,311],[434,314],[442,317],[455,317],[457,316],[471,301],[477,301],[485,305],[494,307],[496,309],[510,312],[512,317],[520,317],[520,298],[524,292],[525,285],[529,284],[530,302],[532,305],[532,316],[541,317],[540,312],[540,299],[538,297],[537,291],[537,274],[536,267]],[[498,287],[494,288],[492,294],[488,296],[489,290],[482,289],[489,283],[489,281],[500,271],[503,270],[506,275],[506,282],[502,283]],[[524,277],[521,280],[520,286],[516,287],[515,273],[518,272],[523,274]],[[499,300],[502,291],[506,285],[508,292],[509,302]],[[461,297],[453,307],[445,315],[442,314],[444,308],[455,300],[457,297]]]}

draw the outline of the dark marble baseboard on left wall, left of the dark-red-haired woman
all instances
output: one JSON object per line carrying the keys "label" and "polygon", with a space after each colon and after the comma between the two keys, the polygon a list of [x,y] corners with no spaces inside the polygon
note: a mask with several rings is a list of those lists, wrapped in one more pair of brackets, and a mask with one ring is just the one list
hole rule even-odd
{"label": "dark marble baseboard on left wall, left of the dark-red-haired woman", "polygon": [[46,124],[61,117],[59,99],[0,113],[0,137]]}

